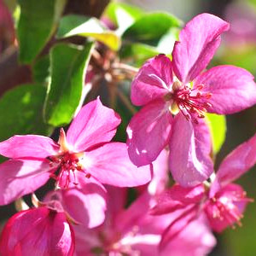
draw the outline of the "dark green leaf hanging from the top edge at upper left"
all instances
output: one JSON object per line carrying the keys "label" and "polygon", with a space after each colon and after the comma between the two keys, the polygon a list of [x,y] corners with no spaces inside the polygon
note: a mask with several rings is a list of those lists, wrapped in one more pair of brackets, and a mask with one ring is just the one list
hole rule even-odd
{"label": "dark green leaf hanging from the top edge at upper left", "polygon": [[19,0],[17,37],[20,62],[30,63],[49,41],[66,0]]}

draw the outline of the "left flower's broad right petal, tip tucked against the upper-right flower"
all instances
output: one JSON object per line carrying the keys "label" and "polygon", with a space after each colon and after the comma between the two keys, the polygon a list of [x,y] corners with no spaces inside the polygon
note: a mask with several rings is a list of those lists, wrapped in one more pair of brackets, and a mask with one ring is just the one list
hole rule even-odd
{"label": "left flower's broad right petal, tip tucked against the upper-right flower", "polygon": [[83,167],[99,182],[117,187],[134,187],[151,180],[149,166],[131,163],[125,143],[107,143],[84,153]]}

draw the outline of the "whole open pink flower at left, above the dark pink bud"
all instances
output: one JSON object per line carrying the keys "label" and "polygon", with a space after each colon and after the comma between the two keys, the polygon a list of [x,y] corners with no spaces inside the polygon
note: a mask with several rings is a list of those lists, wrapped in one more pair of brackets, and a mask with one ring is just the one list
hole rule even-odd
{"label": "whole open pink flower at left, above the dark pink bud", "polygon": [[108,143],[119,123],[119,116],[97,99],[79,111],[67,137],[61,129],[59,143],[38,135],[0,143],[0,154],[10,158],[0,165],[0,205],[32,193],[53,177],[74,219],[89,227],[101,224],[106,208],[102,183],[131,187],[151,178],[148,166],[131,163],[125,143]]}

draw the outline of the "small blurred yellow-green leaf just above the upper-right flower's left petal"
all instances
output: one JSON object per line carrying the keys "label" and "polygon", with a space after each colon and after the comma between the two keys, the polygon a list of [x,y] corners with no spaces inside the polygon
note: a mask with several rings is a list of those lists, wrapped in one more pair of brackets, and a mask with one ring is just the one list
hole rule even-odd
{"label": "small blurred yellow-green leaf just above the upper-right flower's left petal", "polygon": [[129,61],[131,65],[141,67],[145,61],[154,55],[158,55],[159,51],[148,44],[125,44],[120,49],[119,57]]}

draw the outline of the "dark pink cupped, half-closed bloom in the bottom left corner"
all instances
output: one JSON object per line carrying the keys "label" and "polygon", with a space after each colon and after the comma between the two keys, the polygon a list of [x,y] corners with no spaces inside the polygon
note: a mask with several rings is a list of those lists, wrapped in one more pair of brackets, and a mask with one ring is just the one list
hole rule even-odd
{"label": "dark pink cupped, half-closed bloom in the bottom left corner", "polygon": [[9,218],[0,236],[2,256],[72,256],[73,227],[64,212],[48,207],[33,208]]}

